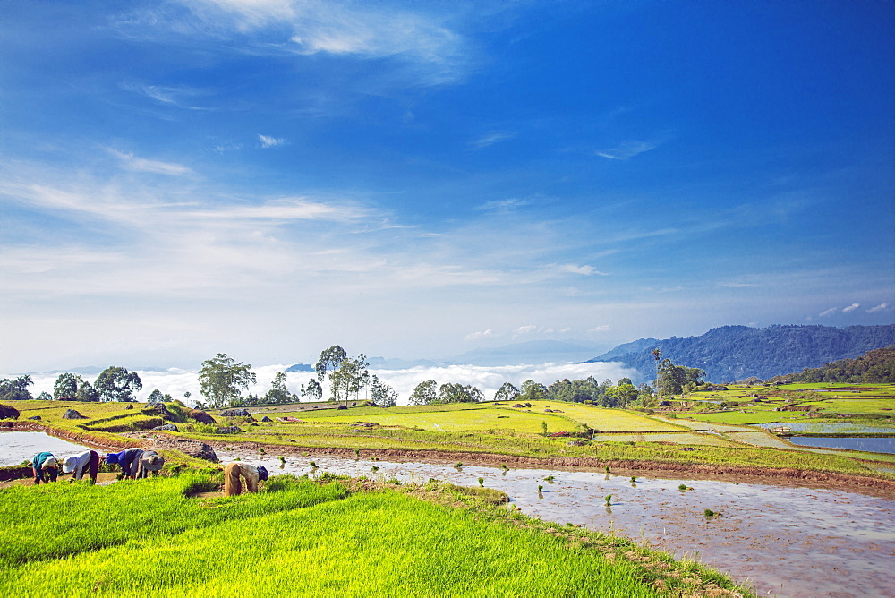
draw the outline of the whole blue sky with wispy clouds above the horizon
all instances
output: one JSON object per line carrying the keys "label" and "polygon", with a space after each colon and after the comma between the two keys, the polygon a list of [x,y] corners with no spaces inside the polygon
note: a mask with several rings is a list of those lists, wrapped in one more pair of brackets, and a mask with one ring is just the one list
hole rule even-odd
{"label": "whole blue sky with wispy clouds above the horizon", "polygon": [[891,2],[0,11],[4,372],[895,321]]}

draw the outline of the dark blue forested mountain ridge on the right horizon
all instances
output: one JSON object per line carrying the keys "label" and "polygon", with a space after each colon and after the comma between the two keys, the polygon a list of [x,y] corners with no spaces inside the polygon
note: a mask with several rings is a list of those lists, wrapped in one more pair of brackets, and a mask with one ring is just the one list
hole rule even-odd
{"label": "dark blue forested mountain ridge on the right horizon", "polygon": [[[639,381],[652,381],[656,362],[650,354],[658,348],[663,359],[703,369],[707,380],[743,380],[750,376],[768,380],[893,344],[895,324],[842,329],[821,325],[775,325],[763,329],[722,326],[699,337],[641,338],[586,363],[624,363],[640,373]],[[631,350],[626,350],[629,347]]]}

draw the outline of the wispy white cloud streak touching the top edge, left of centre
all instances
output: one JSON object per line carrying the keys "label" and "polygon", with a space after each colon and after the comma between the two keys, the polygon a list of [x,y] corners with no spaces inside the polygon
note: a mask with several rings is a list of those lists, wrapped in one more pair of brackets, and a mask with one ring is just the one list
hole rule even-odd
{"label": "wispy white cloud streak touching the top edge, left of centre", "polygon": [[[177,0],[189,11],[158,9],[123,19],[118,27],[145,36],[164,28],[189,38],[227,38],[258,53],[327,54],[387,58],[413,66],[418,84],[461,78],[467,68],[465,39],[439,16],[438,7],[328,0]],[[196,21],[196,22],[190,22]]]}

